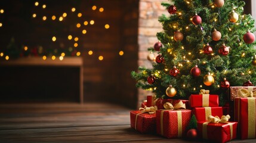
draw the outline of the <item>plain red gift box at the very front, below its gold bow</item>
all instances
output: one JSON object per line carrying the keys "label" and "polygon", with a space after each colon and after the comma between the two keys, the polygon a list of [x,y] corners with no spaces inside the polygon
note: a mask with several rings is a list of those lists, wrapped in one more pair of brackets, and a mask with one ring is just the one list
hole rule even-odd
{"label": "plain red gift box at the very front, below its gold bow", "polygon": [[227,142],[236,138],[238,122],[209,123],[198,122],[198,135],[203,139],[216,142]]}

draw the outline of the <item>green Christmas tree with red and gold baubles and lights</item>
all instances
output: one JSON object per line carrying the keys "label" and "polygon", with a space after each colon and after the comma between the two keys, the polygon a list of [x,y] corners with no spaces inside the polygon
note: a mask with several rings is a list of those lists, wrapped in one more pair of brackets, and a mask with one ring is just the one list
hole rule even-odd
{"label": "green Christmas tree with red and gold baubles and lights", "polygon": [[159,17],[163,31],[156,33],[159,42],[148,49],[153,69],[139,67],[131,73],[138,88],[151,90],[158,98],[178,99],[209,89],[223,104],[229,86],[256,83],[254,19],[243,14],[245,2],[172,4],[162,3],[169,15]]}

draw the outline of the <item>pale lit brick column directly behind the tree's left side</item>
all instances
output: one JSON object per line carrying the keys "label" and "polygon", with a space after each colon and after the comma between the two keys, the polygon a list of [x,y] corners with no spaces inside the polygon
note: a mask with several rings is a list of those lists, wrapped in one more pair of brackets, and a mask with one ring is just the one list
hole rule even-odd
{"label": "pale lit brick column directly behind the tree's left side", "polygon": [[[156,33],[162,31],[162,25],[158,22],[159,15],[168,14],[161,2],[158,0],[140,0],[138,66],[152,67],[152,63],[147,60],[149,54],[147,48],[152,47],[158,41]],[[143,100],[146,100],[146,95],[152,95],[152,92],[138,89],[138,106]]]}

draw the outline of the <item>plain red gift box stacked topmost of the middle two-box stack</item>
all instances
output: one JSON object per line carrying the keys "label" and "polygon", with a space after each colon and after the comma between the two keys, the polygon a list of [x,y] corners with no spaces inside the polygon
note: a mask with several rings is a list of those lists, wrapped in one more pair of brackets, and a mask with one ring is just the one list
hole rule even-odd
{"label": "plain red gift box stacked topmost of the middle two-box stack", "polygon": [[192,94],[189,97],[190,107],[218,107],[218,95]]}

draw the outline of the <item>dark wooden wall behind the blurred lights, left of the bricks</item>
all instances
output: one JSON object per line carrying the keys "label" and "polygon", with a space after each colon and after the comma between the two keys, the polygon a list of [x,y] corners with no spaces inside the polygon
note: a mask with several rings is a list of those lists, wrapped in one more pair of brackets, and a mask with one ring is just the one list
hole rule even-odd
{"label": "dark wooden wall behind the blurred lights, left of the bricks", "polygon": [[[59,56],[60,51],[68,51],[69,48],[81,51],[84,59],[84,101],[112,101],[134,107],[137,102],[137,90],[130,73],[137,69],[138,1],[38,2],[38,7],[35,7],[35,1],[0,2],[0,9],[5,10],[4,14],[0,14],[0,22],[3,23],[0,27],[0,52],[6,49],[11,38],[15,39],[15,44],[21,51],[22,45],[28,46],[29,51],[40,47],[43,51],[51,49],[48,55],[56,56]],[[47,8],[43,9],[42,4],[46,4]],[[93,5],[97,6],[96,10],[92,10]],[[71,11],[72,7],[76,8],[74,13]],[[101,7],[104,8],[102,13],[99,11]],[[36,18],[32,18],[33,13],[36,13]],[[67,17],[58,21],[58,17],[63,13],[67,13]],[[77,17],[78,13],[82,13],[81,18]],[[47,16],[45,21],[42,20],[44,15]],[[56,20],[51,20],[52,15],[57,17]],[[89,22],[87,26],[83,24],[85,20]],[[91,25],[90,20],[95,23]],[[81,27],[76,27],[77,23],[80,23]],[[105,24],[109,24],[110,28],[105,29]],[[82,34],[83,29],[87,30],[85,35]],[[73,46],[73,39],[67,39],[68,35],[79,38],[78,47]],[[57,41],[51,40],[53,36],[56,36]],[[92,55],[88,55],[90,50],[93,51]],[[119,55],[121,50],[124,51],[123,56]],[[42,57],[42,54],[37,54]],[[100,55],[104,58],[102,61],[98,60]],[[21,56],[24,55],[16,54],[16,57]]]}

